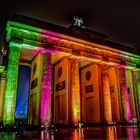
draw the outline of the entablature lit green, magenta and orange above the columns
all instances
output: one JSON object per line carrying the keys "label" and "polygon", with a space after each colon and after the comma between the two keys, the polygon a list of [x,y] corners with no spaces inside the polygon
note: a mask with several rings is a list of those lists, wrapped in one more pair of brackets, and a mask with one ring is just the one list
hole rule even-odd
{"label": "entablature lit green, magenta and orange above the columns", "polygon": [[140,64],[139,55],[13,21],[7,23],[6,41],[18,43],[21,47],[40,47],[52,52],[71,53],[77,57],[97,59],[108,64],[133,68],[139,68]]}

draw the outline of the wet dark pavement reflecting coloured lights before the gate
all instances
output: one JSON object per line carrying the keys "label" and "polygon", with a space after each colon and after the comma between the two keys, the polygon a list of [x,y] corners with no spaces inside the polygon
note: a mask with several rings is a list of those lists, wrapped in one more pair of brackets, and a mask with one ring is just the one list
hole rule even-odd
{"label": "wet dark pavement reflecting coloured lights before the gate", "polygon": [[0,140],[138,140],[140,127],[108,126],[0,132]]}

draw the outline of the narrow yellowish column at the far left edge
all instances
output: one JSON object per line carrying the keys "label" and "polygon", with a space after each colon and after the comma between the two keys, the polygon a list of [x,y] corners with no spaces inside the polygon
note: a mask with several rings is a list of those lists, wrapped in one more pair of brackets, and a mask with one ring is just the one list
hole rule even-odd
{"label": "narrow yellowish column at the far left edge", "polygon": [[3,99],[5,92],[5,83],[6,83],[6,71],[1,73],[1,81],[0,81],[0,123],[2,122],[3,115]]}

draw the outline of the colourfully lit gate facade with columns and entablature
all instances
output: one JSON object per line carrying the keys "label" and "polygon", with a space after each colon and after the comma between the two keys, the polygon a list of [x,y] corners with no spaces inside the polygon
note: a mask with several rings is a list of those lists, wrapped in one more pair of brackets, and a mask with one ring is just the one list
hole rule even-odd
{"label": "colourfully lit gate facade with columns and entablature", "polygon": [[[100,35],[89,33],[93,40],[88,41],[80,27],[71,28],[76,37],[68,29],[36,26],[23,19],[7,22],[8,66],[0,83],[4,126],[14,125],[21,117],[16,110],[26,113],[29,125],[50,124],[51,120],[66,125],[140,121],[139,55],[111,48]],[[30,68],[26,112],[18,103],[24,100],[18,94],[26,90],[27,83],[18,90],[22,65]]]}

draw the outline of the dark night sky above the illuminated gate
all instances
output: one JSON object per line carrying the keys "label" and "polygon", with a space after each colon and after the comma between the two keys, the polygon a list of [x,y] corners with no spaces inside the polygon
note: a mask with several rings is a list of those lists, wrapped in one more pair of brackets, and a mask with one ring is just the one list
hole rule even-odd
{"label": "dark night sky above the illuminated gate", "polygon": [[73,15],[78,15],[89,29],[140,52],[138,0],[4,0],[0,4],[1,38],[4,20],[13,12],[65,27],[72,24]]}

